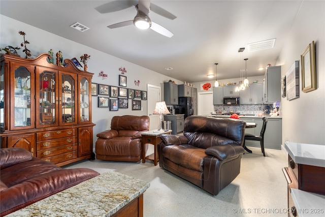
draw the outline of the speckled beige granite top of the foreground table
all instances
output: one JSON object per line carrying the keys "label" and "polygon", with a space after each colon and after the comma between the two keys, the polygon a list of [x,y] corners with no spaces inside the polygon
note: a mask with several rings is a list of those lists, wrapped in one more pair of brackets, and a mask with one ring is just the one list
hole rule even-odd
{"label": "speckled beige granite top of the foreground table", "polygon": [[111,171],[7,216],[111,216],[149,186],[146,181]]}

